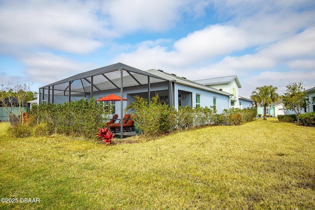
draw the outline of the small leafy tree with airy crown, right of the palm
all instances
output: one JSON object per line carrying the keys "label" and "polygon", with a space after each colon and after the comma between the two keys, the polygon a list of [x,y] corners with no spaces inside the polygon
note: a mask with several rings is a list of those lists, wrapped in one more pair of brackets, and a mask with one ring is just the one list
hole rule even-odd
{"label": "small leafy tree with airy crown, right of the palm", "polygon": [[282,102],[284,103],[284,108],[292,110],[296,117],[301,114],[302,110],[309,106],[309,98],[306,96],[303,82],[289,83],[282,96]]}

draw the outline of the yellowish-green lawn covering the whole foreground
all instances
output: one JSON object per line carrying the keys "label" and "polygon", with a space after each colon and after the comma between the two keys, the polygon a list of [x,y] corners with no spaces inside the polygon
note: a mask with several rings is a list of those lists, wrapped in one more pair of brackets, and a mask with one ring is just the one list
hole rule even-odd
{"label": "yellowish-green lawn covering the whole foreground", "polygon": [[0,197],[40,203],[0,209],[315,209],[313,127],[270,118],[105,146],[7,126]]}

